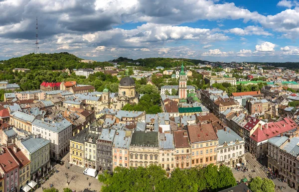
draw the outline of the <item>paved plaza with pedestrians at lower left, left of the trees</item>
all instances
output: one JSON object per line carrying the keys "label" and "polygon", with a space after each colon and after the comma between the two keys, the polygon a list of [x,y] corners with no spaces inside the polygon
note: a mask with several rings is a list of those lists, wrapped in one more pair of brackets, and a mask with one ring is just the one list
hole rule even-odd
{"label": "paved plaza with pedestrians at lower left, left of the trees", "polygon": [[[58,173],[54,173],[49,180],[47,180],[40,188],[36,190],[36,192],[42,192],[43,188],[49,188],[50,184],[53,184],[54,188],[58,189],[59,192],[63,192],[64,188],[70,188],[71,190],[75,190],[76,192],[83,191],[84,189],[90,189],[91,191],[100,192],[101,186],[100,182],[96,178],[86,176],[83,174],[84,168],[80,168],[77,166],[70,166],[68,163],[69,154],[67,153],[63,160],[65,161],[64,165],[56,164],[54,167],[59,171]],[[69,167],[69,169],[68,169]],[[65,174],[68,174],[69,178],[66,178]],[[72,179],[73,178],[73,179]],[[88,178],[88,180],[87,180]],[[67,180],[69,185],[67,185]],[[91,185],[89,186],[89,183]]]}

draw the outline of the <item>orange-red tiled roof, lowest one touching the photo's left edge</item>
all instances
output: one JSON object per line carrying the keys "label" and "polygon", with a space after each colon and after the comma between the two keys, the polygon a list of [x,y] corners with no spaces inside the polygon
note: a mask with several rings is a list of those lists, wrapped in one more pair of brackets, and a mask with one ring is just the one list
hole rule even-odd
{"label": "orange-red tiled roof, lowest one touching the photo's left edge", "polygon": [[0,167],[5,173],[8,173],[9,171],[17,168],[19,165],[8,152],[7,148],[3,147],[2,149],[3,153],[0,155]]}

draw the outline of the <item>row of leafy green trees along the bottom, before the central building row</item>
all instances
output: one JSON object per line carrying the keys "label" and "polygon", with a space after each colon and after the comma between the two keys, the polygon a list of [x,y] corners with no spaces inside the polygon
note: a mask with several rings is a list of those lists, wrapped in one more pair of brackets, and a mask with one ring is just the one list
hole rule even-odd
{"label": "row of leafy green trees along the bottom, before the central building row", "polygon": [[102,192],[218,192],[237,185],[230,168],[218,169],[212,164],[204,168],[176,168],[170,178],[156,165],[136,169],[117,167],[113,174],[100,175],[99,181],[104,183]]}

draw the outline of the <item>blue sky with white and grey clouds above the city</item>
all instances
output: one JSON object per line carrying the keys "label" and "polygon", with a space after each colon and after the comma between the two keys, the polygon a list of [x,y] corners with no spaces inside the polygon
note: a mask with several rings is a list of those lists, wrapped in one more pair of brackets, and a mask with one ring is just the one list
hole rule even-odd
{"label": "blue sky with white and grey clouds above the city", "polygon": [[69,52],[208,61],[299,61],[299,1],[0,0],[0,60]]}

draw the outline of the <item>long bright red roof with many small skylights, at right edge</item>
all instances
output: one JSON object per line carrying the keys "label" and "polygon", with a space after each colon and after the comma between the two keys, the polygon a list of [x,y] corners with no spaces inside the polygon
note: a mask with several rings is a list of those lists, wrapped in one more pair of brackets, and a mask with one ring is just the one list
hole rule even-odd
{"label": "long bright red roof with many small skylights, at right edge", "polygon": [[288,117],[285,117],[283,120],[278,122],[270,122],[266,123],[262,126],[257,128],[254,133],[250,136],[250,138],[256,142],[265,141],[272,137],[278,136],[281,133],[285,133],[295,129],[298,125]]}

